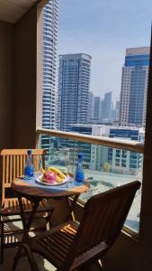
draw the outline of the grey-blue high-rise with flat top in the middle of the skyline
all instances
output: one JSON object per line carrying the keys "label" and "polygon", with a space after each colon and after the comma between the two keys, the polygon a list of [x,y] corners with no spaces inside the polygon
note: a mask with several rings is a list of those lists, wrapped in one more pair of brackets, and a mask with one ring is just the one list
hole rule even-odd
{"label": "grey-blue high-rise with flat top in the middle of the skyline", "polygon": [[59,56],[58,129],[85,124],[88,117],[91,56],[85,53]]}

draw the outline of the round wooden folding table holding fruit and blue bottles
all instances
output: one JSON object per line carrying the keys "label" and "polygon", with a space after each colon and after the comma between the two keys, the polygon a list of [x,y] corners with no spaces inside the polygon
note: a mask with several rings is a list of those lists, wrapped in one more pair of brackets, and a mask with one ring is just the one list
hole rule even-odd
{"label": "round wooden folding table holding fruit and blue bottles", "polygon": [[[42,199],[66,198],[68,215],[69,218],[71,218],[72,211],[74,210],[80,193],[87,192],[89,189],[89,184],[87,182],[80,186],[76,186],[75,182],[65,182],[64,184],[49,186],[37,183],[35,177],[32,177],[30,180],[26,180],[23,177],[16,178],[13,180],[11,186],[13,191],[16,192],[19,201],[24,236],[28,235],[32,220]],[[22,197],[32,202],[33,207],[28,221],[25,219]],[[72,201],[69,200],[69,197],[72,197]]]}

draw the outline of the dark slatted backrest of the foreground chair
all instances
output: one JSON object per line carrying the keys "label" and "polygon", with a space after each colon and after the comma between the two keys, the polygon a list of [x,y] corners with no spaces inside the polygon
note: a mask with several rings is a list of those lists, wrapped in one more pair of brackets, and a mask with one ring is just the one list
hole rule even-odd
{"label": "dark slatted backrest of the foreground chair", "polygon": [[130,182],[89,199],[69,255],[78,257],[102,242],[112,246],[139,187],[139,181]]}

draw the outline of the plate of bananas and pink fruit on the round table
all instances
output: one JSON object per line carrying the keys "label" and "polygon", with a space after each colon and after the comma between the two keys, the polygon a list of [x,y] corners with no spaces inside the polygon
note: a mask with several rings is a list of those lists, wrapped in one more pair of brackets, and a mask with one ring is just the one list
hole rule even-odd
{"label": "plate of bananas and pink fruit on the round table", "polygon": [[56,167],[49,167],[42,170],[40,176],[36,178],[36,182],[44,185],[60,185],[70,181],[70,177],[66,173],[62,173]]}

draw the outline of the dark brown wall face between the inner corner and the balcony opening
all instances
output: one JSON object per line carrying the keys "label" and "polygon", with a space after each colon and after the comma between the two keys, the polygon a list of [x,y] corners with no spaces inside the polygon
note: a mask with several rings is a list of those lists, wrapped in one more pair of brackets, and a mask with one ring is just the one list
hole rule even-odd
{"label": "dark brown wall face between the inner corner and the balcony opening", "polygon": [[13,146],[35,145],[37,7],[14,25]]}

